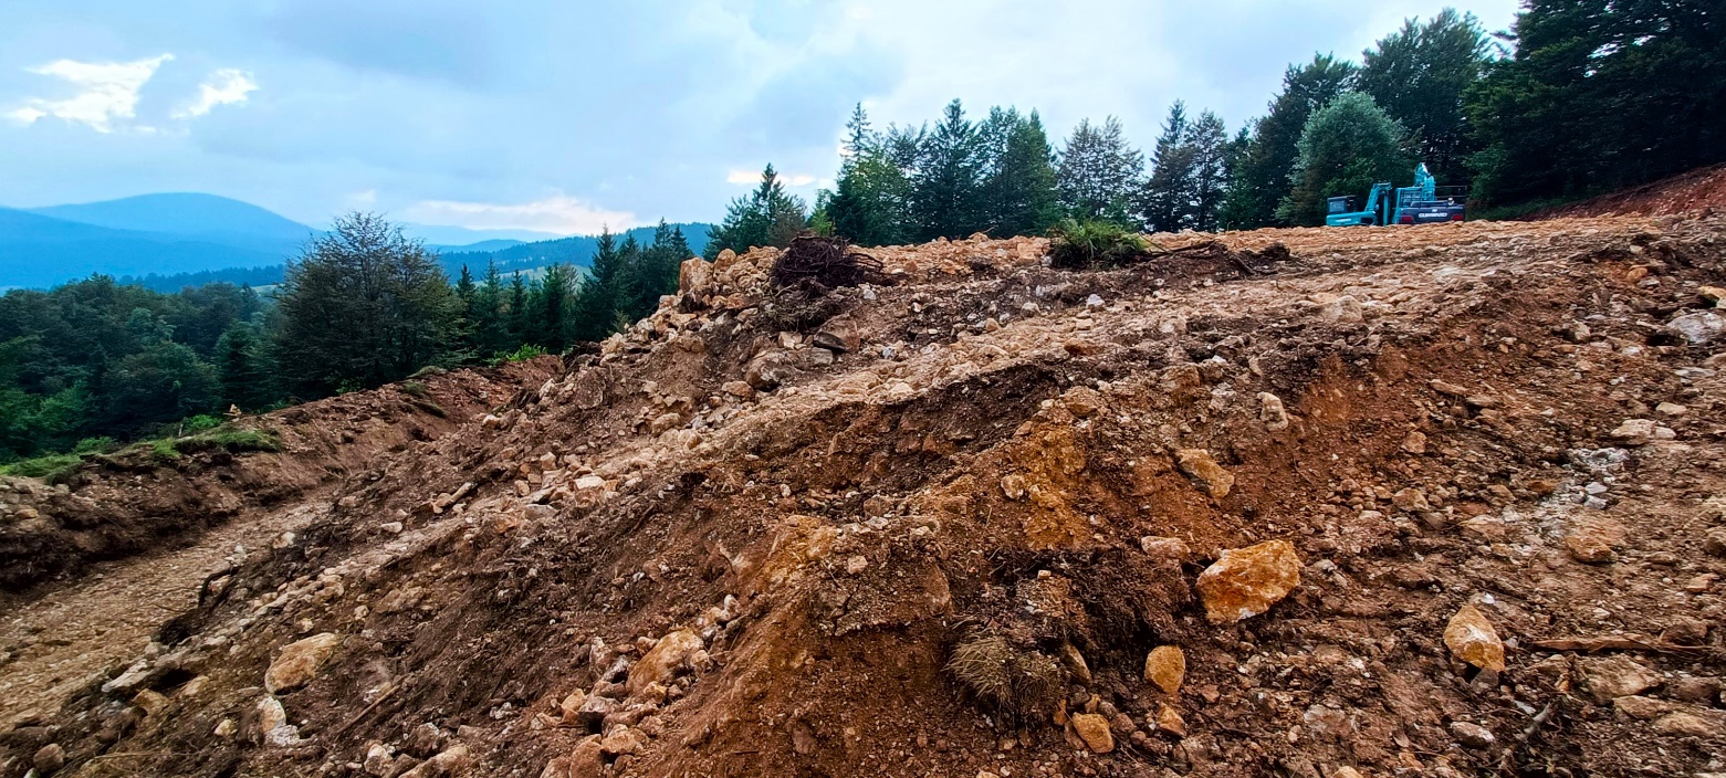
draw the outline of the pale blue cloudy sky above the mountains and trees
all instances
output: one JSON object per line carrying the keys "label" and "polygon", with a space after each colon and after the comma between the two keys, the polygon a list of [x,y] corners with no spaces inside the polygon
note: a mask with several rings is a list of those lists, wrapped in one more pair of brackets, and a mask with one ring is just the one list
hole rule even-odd
{"label": "pale blue cloudy sky above the mountains and trees", "polygon": [[[1414,0],[22,0],[0,3],[0,205],[207,191],[307,224],[595,233],[718,221],[772,162],[813,200],[853,105],[1036,109],[1056,147],[1169,104],[1231,131],[1289,62]],[[1464,0],[1488,31],[1517,0]]]}

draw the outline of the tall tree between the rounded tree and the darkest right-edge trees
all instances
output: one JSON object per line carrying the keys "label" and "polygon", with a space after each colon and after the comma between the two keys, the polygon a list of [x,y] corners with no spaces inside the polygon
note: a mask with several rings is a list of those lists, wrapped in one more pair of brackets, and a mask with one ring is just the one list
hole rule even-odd
{"label": "tall tree between the rounded tree and the darkest right-edge trees", "polygon": [[1472,145],[1462,98],[1486,71],[1490,48],[1474,14],[1445,9],[1426,24],[1407,19],[1362,59],[1360,91],[1408,129],[1441,183],[1467,179]]}

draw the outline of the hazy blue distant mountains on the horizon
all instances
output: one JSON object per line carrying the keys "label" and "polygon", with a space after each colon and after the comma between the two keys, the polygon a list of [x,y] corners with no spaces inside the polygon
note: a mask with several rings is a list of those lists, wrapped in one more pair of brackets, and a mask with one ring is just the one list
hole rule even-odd
{"label": "hazy blue distant mountains on the horizon", "polygon": [[[699,254],[709,226],[680,226]],[[485,273],[487,262],[504,273],[552,262],[585,266],[595,245],[590,236],[559,238],[525,229],[402,224],[402,231],[438,252],[452,276],[463,264],[475,276]],[[40,209],[0,207],[0,290],[45,288],[91,273],[159,290],[211,281],[280,283],[283,264],[316,235],[318,228],[257,205],[198,193]],[[652,228],[632,229],[630,235],[646,242]]]}

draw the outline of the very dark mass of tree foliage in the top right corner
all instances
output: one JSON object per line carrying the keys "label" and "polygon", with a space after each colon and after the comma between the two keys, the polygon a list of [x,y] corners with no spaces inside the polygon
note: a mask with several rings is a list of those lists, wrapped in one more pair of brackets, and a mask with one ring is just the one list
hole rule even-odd
{"label": "very dark mass of tree foliage in the top right corner", "polygon": [[1572,198],[1726,160],[1717,3],[1528,0],[1510,59],[1471,86],[1490,205]]}

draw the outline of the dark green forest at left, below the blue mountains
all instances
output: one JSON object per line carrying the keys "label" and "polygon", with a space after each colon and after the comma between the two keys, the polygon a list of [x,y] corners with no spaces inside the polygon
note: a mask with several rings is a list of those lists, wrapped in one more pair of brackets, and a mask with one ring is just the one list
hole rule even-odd
{"label": "dark green forest at left, below the blue mountains", "polygon": [[0,295],[0,462],[155,435],[181,419],[268,411],[378,386],[426,366],[563,352],[677,292],[680,228],[606,231],[583,274],[495,266],[450,281],[438,257],[349,214],[288,264],[273,295],[211,283],[176,293],[91,276]]}

